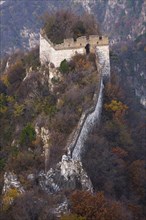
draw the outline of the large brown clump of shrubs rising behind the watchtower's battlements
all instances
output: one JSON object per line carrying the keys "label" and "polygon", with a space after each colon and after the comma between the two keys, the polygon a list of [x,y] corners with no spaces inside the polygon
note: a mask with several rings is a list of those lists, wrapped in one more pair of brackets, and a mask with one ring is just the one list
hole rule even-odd
{"label": "large brown clump of shrubs rising behind the watchtower's battlements", "polygon": [[92,15],[82,16],[69,11],[57,11],[55,14],[46,13],[42,17],[44,29],[48,38],[56,44],[65,38],[80,37],[82,35],[99,34],[99,26]]}

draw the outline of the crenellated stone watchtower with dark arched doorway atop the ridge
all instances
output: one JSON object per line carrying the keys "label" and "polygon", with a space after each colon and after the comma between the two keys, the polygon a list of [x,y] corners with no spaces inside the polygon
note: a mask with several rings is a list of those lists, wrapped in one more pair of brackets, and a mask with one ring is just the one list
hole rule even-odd
{"label": "crenellated stone watchtower with dark arched doorway atop the ridge", "polygon": [[45,32],[40,32],[40,62],[42,65],[53,63],[55,67],[59,67],[60,63],[66,59],[70,60],[76,54],[95,53],[96,48],[108,46],[108,37],[90,35],[79,37],[76,40],[73,38],[64,39],[61,44],[53,44]]}

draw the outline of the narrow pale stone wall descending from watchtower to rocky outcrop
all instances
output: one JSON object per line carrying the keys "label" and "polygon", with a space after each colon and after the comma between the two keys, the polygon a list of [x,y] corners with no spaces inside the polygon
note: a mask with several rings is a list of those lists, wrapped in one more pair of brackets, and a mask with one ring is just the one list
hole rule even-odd
{"label": "narrow pale stone wall descending from watchtower to rocky outcrop", "polygon": [[103,80],[110,77],[110,59],[109,46],[96,47],[97,69],[100,73],[99,88],[94,96],[93,106],[82,114],[79,128],[76,131],[75,137],[69,146],[69,154],[74,160],[81,160],[84,149],[84,143],[88,137],[89,132],[94,127],[95,123],[100,121],[100,113],[102,110],[102,96],[103,96]]}

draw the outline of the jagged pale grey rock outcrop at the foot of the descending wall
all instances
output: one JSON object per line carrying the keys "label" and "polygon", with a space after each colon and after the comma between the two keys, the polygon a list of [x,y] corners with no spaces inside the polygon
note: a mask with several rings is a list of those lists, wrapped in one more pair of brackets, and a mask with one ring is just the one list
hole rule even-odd
{"label": "jagged pale grey rock outcrop at the foot of the descending wall", "polygon": [[40,172],[39,184],[47,193],[55,193],[61,190],[90,190],[92,183],[82,167],[80,161],[75,161],[69,156],[63,155],[60,163],[47,173]]}

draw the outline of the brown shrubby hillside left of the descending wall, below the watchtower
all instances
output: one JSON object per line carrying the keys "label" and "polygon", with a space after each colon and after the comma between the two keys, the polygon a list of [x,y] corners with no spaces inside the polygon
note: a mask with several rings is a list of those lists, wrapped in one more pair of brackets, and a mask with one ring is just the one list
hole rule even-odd
{"label": "brown shrubby hillside left of the descending wall, below the watchtower", "polygon": [[[95,56],[91,54],[87,60],[86,56],[77,55],[69,63],[63,61],[59,69],[40,66],[38,49],[28,54],[17,53],[12,60],[0,81],[0,218],[23,219],[24,212],[24,219],[27,214],[31,219],[29,211],[25,211],[30,208],[32,215],[39,219],[57,219],[56,215],[51,218],[54,216],[51,210],[64,200],[64,193],[51,191],[54,195],[50,192],[45,198],[46,190],[55,184],[47,185],[44,191],[39,179],[44,170],[48,171],[61,160],[69,135],[82,112],[92,105],[99,81]],[[47,155],[46,164],[47,145],[50,157]],[[42,183],[45,184],[47,179],[43,177],[44,174]],[[56,181],[61,184],[63,177],[56,176]],[[69,190],[67,184],[63,187]],[[25,200],[24,209],[19,209],[15,202],[13,205],[18,210],[11,206],[10,200],[16,198]]]}

